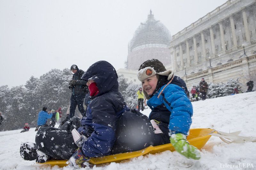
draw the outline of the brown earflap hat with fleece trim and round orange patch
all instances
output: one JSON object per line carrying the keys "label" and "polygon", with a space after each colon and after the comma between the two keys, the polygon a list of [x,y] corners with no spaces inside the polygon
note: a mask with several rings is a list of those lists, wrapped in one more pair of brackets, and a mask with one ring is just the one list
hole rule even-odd
{"label": "brown earflap hat with fleece trim and round orange patch", "polygon": [[137,77],[140,81],[156,74],[167,76],[170,80],[173,76],[172,70],[166,70],[164,64],[157,59],[147,60],[140,65]]}

